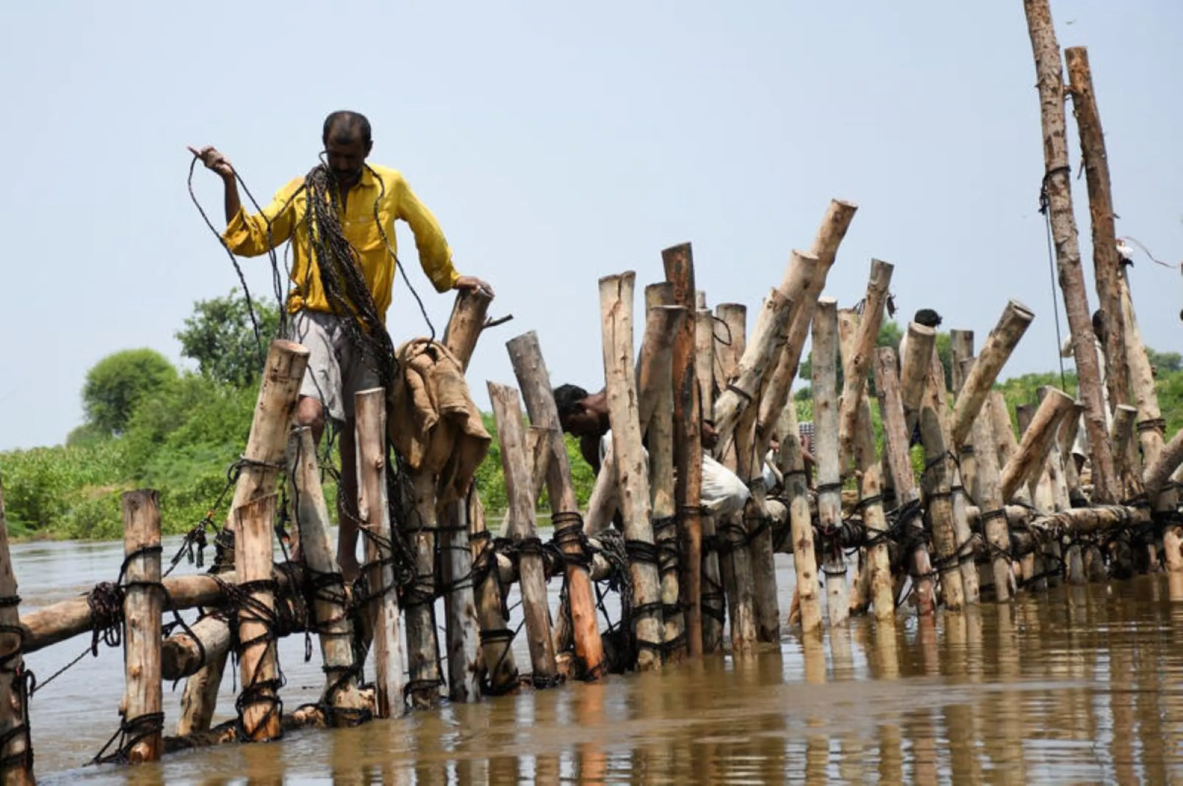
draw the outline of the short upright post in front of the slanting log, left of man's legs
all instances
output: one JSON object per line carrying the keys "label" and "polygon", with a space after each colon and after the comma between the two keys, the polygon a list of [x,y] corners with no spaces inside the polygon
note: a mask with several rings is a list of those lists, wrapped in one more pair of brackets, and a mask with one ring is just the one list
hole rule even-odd
{"label": "short upright post in front of the slanting log, left of man's legs", "polygon": [[276,495],[253,499],[234,509],[234,547],[238,552],[238,579],[251,596],[251,604],[238,612],[239,693],[241,723],[246,741],[278,740],[279,726],[278,638],[272,617],[274,592],[269,586],[272,571],[272,535]]}

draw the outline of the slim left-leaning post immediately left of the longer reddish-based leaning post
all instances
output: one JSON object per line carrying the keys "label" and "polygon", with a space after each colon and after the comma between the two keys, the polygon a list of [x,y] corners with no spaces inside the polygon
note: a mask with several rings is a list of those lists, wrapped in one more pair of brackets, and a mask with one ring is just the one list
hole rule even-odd
{"label": "slim left-leaning post immediately left of the longer reddish-based leaning post", "polygon": [[547,688],[558,680],[555,642],[550,635],[550,608],[547,603],[547,570],[538,537],[535,533],[534,500],[530,498],[530,468],[525,454],[525,429],[522,407],[513,388],[489,382],[489,400],[497,418],[497,436],[502,443],[502,468],[509,499],[510,533],[519,548],[519,585],[525,616],[526,642],[536,688]]}

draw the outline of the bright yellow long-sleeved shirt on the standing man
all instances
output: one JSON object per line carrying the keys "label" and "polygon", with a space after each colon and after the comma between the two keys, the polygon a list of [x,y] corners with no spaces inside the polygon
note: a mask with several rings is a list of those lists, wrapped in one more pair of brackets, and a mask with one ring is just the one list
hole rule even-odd
{"label": "bright yellow long-sleeved shirt on the standing man", "polygon": [[[374,295],[377,312],[386,321],[386,312],[390,307],[390,292],[394,287],[394,256],[387,249],[374,222],[374,204],[377,202],[379,220],[390,241],[390,249],[397,251],[394,236],[394,222],[402,219],[411,226],[419,248],[419,261],[424,273],[431,279],[437,292],[447,292],[460,278],[452,265],[452,251],[448,248],[435,216],[412,193],[402,175],[384,167],[363,170],[361,181],[349,191],[341,225],[345,240],[357,252],[366,285]],[[230,249],[240,256],[258,256],[267,253],[267,221],[271,222],[271,245],[282,245],[292,240],[292,269],[290,278],[295,287],[287,295],[287,311],[300,308],[311,311],[329,311],[328,298],[321,286],[321,274],[316,259],[312,256],[308,238],[308,191],[302,190],[303,177],[297,177],[276,193],[274,201],[263,209],[263,214],[248,215],[245,209],[231,219],[222,232],[222,239]],[[384,191],[383,191],[384,187]],[[286,207],[285,207],[286,206]],[[295,233],[295,234],[293,234]]]}

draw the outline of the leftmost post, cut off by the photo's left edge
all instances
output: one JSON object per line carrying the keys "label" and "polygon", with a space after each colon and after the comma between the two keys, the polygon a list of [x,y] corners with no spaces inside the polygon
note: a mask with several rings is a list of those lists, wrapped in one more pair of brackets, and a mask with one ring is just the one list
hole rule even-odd
{"label": "leftmost post, cut off by the photo's left edge", "polygon": [[20,626],[20,596],[8,551],[8,519],[0,483],[0,784],[33,786],[33,743],[28,733],[28,691],[21,643],[27,634]]}

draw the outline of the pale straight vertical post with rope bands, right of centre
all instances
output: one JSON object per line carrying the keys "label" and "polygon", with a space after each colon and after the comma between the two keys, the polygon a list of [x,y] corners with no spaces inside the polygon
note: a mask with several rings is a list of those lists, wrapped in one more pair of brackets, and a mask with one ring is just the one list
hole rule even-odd
{"label": "pale straight vertical post with rope bands, right of centre", "polygon": [[817,456],[817,520],[822,532],[830,532],[822,544],[822,572],[826,574],[826,609],[830,626],[846,623],[849,615],[849,587],[846,560],[839,541],[842,526],[842,480],[838,450],[838,303],[820,298],[813,321],[813,400]]}

